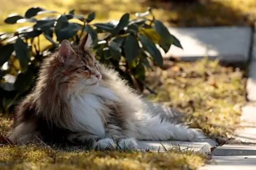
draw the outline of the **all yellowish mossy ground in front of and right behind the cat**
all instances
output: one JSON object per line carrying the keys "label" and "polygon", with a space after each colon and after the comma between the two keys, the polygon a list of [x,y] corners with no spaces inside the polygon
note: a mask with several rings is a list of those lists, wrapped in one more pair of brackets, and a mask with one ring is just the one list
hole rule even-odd
{"label": "all yellowish mossy ground in front of and right behind the cat", "polygon": [[[155,68],[147,75],[147,83],[158,92],[158,95],[145,93],[148,98],[187,113],[191,126],[203,129],[211,137],[232,134],[240,106],[245,102],[244,71],[221,66],[217,60],[203,59],[192,63],[165,61],[165,70]],[[1,117],[4,135],[10,124],[11,120]],[[207,160],[207,155],[178,148],[157,153],[56,150],[44,143],[0,147],[1,169],[196,169]]]}

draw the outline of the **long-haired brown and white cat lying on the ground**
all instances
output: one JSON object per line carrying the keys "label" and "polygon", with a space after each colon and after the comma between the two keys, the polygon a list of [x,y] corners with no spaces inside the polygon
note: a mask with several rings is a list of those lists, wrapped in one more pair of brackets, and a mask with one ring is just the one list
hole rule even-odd
{"label": "long-haired brown and white cat lying on the ground", "polygon": [[24,144],[84,144],[137,149],[137,140],[193,140],[197,133],[162,120],[118,73],[96,61],[88,33],[78,45],[68,40],[42,62],[35,88],[16,107],[9,139]]}

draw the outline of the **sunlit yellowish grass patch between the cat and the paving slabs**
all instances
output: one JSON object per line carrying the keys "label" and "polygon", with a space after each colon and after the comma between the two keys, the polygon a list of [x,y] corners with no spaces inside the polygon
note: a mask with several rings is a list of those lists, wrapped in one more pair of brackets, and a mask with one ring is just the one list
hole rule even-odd
{"label": "sunlit yellowish grass patch between the cat and the paving slabs", "polygon": [[207,58],[166,65],[148,72],[147,83],[158,93],[148,98],[187,113],[186,122],[209,137],[231,137],[246,99],[244,71]]}

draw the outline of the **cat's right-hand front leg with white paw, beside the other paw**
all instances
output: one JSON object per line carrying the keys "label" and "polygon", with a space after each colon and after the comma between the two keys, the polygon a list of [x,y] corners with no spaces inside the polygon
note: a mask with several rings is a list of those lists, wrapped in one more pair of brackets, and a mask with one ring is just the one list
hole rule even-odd
{"label": "cat's right-hand front leg with white paw, beside the other paw", "polygon": [[123,130],[115,125],[109,124],[106,126],[106,136],[109,139],[117,142],[117,149],[127,149],[127,150],[136,150],[138,147],[137,141],[135,138],[130,138],[126,136]]}

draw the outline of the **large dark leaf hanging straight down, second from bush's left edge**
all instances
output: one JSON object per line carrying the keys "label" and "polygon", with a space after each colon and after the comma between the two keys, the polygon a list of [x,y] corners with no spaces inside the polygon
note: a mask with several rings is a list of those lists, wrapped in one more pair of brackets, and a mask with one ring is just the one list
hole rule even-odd
{"label": "large dark leaf hanging straight down, second from bush's left edge", "polygon": [[28,69],[28,63],[30,61],[30,50],[28,44],[25,43],[21,38],[17,38],[14,49],[16,57],[19,60],[20,68],[22,72],[26,72]]}

